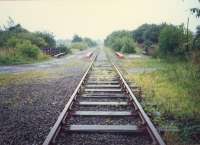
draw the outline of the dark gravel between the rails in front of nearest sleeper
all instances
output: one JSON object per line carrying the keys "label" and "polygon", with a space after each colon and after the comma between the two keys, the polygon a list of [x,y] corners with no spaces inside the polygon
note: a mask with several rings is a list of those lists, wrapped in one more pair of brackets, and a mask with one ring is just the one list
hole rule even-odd
{"label": "dark gravel between the rails in front of nearest sleeper", "polygon": [[68,134],[65,133],[58,138],[57,145],[150,145],[151,139],[148,136],[127,135],[127,134]]}

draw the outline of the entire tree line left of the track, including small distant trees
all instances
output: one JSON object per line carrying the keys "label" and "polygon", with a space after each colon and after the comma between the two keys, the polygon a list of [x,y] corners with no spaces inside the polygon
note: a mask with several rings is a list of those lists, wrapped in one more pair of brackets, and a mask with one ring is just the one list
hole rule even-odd
{"label": "entire tree line left of the track, including small distant trees", "polygon": [[0,64],[32,63],[48,59],[49,56],[42,51],[44,48],[55,48],[67,54],[71,49],[83,50],[95,45],[92,39],[78,35],[73,37],[71,45],[60,44],[53,33],[30,32],[9,17],[7,24],[0,27]]}

